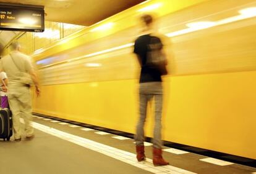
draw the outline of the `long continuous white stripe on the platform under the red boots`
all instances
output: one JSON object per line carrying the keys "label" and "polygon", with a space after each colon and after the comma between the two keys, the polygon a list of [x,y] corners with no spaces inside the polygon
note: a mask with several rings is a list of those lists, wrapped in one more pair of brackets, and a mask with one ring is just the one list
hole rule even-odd
{"label": "long continuous white stripe on the platform under the red boots", "polygon": [[[23,119],[22,119],[22,122],[23,122]],[[111,146],[98,143],[96,141],[92,141],[86,138],[82,138],[80,136],[72,135],[70,133],[62,132],[61,130],[53,129],[46,125],[38,124],[36,122],[32,122],[32,126],[35,129],[38,129],[42,132],[61,138],[62,140],[66,140],[66,141],[78,144],[79,146],[83,146],[84,148],[92,149],[93,151],[100,152],[102,154],[105,154],[106,156],[113,157],[114,159],[121,160],[122,162],[126,162],[127,164],[142,168],[143,170],[147,170],[148,172],[151,172],[150,168],[155,168],[156,170],[159,170],[159,172],[152,172],[152,173],[160,173],[160,172],[167,172],[169,170],[173,170],[179,173],[197,174],[197,173],[189,172],[182,168],[174,167],[171,165],[163,166],[161,168],[153,167],[151,159],[147,159],[147,162],[139,163],[137,162],[135,158],[136,156],[133,153],[122,151],[121,149],[116,149]],[[166,170],[163,170],[162,168],[166,168]]]}

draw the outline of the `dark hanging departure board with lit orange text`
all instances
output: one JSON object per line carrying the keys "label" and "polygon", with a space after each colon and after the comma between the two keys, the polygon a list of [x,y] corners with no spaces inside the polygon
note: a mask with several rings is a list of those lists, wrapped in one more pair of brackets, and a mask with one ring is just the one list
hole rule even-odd
{"label": "dark hanging departure board with lit orange text", "polygon": [[43,32],[43,6],[0,3],[0,30]]}

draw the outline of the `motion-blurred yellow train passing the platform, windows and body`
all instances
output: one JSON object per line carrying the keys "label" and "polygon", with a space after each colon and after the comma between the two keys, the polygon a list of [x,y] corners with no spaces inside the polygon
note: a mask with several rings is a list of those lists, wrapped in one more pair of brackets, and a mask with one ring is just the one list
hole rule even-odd
{"label": "motion-blurred yellow train passing the platform, windows and body", "polygon": [[42,93],[34,112],[134,133],[140,67],[132,52],[139,16],[149,12],[168,38],[163,140],[256,159],[252,0],[145,1],[36,51]]}

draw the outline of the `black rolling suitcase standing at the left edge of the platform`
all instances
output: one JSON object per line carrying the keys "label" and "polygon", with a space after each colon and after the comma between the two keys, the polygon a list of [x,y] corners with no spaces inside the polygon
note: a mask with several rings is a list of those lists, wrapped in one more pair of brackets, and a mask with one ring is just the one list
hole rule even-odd
{"label": "black rolling suitcase standing at the left edge of the platform", "polygon": [[9,141],[12,136],[12,113],[10,109],[0,109],[0,138]]}

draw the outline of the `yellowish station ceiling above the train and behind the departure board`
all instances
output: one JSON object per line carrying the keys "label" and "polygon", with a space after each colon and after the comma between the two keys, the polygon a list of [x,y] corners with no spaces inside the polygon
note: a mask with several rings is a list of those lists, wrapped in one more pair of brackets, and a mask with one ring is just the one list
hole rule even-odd
{"label": "yellowish station ceiling above the train and behind the departure board", "polygon": [[45,6],[45,20],[90,26],[145,0],[0,0]]}

